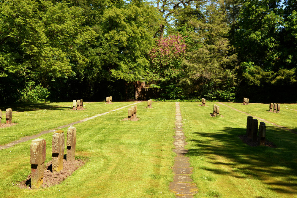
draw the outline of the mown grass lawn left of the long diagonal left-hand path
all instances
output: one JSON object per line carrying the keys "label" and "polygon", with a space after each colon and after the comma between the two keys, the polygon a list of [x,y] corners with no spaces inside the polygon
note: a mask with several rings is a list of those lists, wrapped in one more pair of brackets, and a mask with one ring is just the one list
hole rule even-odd
{"label": "mown grass lawn left of the long diagonal left-hand path", "polygon": [[6,123],[6,108],[12,108],[12,122],[18,124],[0,129],[0,145],[132,103],[134,102],[84,102],[83,107],[86,109],[80,111],[71,110],[72,102],[20,104],[5,109],[2,107],[1,122]]}

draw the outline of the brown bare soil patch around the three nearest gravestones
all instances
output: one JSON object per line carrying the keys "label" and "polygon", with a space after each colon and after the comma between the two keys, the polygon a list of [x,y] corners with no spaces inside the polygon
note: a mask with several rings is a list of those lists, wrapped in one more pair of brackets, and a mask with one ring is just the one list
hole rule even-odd
{"label": "brown bare soil patch around the three nearest gravestones", "polygon": [[[44,169],[43,176],[43,184],[42,188],[48,188],[50,186],[56,185],[64,181],[68,176],[72,175],[72,173],[79,169],[85,164],[85,161],[78,159],[73,163],[63,160],[63,170],[59,173],[52,172],[52,161],[49,161]],[[29,189],[31,190],[31,174],[28,175],[27,179],[20,182],[18,185],[21,189]]]}

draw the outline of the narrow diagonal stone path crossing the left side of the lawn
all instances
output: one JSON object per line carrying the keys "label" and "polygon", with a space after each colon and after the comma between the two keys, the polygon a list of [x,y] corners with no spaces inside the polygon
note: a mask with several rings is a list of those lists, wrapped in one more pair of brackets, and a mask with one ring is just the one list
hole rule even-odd
{"label": "narrow diagonal stone path crossing the left side of the lawn", "polygon": [[141,101],[139,101],[139,102],[135,102],[135,103],[133,103],[133,104],[129,104],[129,105],[124,106],[124,107],[120,107],[120,108],[117,108],[117,109],[113,109],[113,110],[110,110],[110,111],[105,112],[105,113],[100,113],[100,114],[94,115],[94,116],[89,117],[89,118],[85,118],[85,119],[82,119],[82,120],[79,120],[79,121],[76,121],[76,122],[72,122],[72,123],[69,123],[69,124],[66,124],[66,125],[63,125],[63,126],[59,126],[59,127],[55,128],[55,129],[50,129],[50,130],[47,130],[47,131],[42,131],[42,132],[40,132],[39,134],[36,134],[36,135],[22,137],[22,138],[20,138],[19,140],[15,140],[15,141],[13,141],[13,142],[10,142],[10,143],[5,144],[5,145],[2,145],[2,146],[0,145],[0,150],[5,149],[5,148],[10,148],[10,147],[12,147],[13,145],[19,144],[19,143],[21,143],[21,142],[26,142],[26,141],[28,141],[28,140],[31,140],[31,139],[40,137],[41,135],[46,134],[46,133],[52,133],[52,132],[55,132],[57,129],[63,129],[63,128],[65,128],[65,127],[73,126],[74,124],[77,124],[77,123],[82,123],[82,122],[85,122],[85,121],[88,121],[88,120],[97,118],[97,117],[99,117],[99,116],[106,115],[106,114],[111,113],[111,112],[113,112],[113,111],[117,111],[117,110],[124,109],[124,108],[126,108],[126,107],[129,107],[129,106],[134,105],[134,104],[138,104],[138,103],[140,103],[140,102],[141,102]]}

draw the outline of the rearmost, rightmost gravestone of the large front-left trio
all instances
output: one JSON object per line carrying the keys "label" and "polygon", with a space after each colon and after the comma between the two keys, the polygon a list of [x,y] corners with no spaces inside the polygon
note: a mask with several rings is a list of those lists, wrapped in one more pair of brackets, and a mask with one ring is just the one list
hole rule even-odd
{"label": "rearmost, rightmost gravestone of the large front-left trio", "polygon": [[67,130],[67,154],[66,161],[74,162],[76,145],[76,127],[70,126]]}

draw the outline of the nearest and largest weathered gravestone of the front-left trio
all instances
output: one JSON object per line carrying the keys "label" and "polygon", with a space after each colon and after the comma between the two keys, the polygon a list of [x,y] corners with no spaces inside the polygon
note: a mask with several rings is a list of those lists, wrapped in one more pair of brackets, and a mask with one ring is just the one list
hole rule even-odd
{"label": "nearest and largest weathered gravestone of the front-left trio", "polygon": [[38,189],[43,183],[45,139],[32,140],[30,145],[31,189]]}

